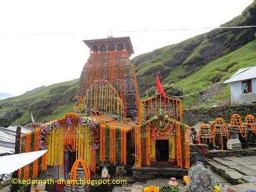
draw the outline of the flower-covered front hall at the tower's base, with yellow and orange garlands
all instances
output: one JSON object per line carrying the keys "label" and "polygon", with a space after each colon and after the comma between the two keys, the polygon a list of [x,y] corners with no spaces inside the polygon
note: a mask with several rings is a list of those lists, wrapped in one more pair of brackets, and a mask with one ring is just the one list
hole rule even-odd
{"label": "flower-covered front hall at the tower's base, with yellow and orange garlands", "polygon": [[126,164],[127,132],[131,131],[127,127],[129,125],[124,127],[120,122],[106,123],[77,113],[67,113],[54,122],[41,124],[33,132],[21,136],[20,153],[48,151],[20,169],[19,175],[24,179],[36,178],[38,173],[47,170],[47,166],[53,166],[55,179],[67,179],[74,163],[69,162],[70,153],[75,154],[74,160],[83,159],[93,173],[99,162]]}

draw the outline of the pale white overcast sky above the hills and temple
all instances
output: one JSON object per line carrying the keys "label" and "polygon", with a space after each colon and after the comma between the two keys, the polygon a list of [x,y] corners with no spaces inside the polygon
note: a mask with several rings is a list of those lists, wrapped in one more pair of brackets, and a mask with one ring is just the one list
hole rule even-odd
{"label": "pale white overcast sky above the hills and temple", "polygon": [[253,0],[0,1],[0,92],[20,95],[77,79],[88,59],[82,40],[130,36],[136,56],[216,27]]}

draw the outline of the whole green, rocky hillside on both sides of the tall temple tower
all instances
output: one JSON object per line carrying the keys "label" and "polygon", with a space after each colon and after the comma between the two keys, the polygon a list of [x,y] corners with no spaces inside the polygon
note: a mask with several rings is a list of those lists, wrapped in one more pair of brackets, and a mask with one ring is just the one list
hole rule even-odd
{"label": "whole green, rocky hillside on both sides of the tall temple tower", "polygon": [[[256,0],[238,17],[223,26],[248,26],[256,23]],[[232,76],[239,68],[256,64],[255,28],[214,29],[179,44],[168,45],[136,56],[132,60],[141,97],[156,90],[156,73],[170,95],[184,97],[185,108],[209,107],[229,99],[228,85],[200,90]],[[32,91],[0,100],[0,126],[59,118],[72,111],[79,79],[42,86]],[[211,93],[212,92],[212,93]],[[206,99],[205,99],[206,98]]]}

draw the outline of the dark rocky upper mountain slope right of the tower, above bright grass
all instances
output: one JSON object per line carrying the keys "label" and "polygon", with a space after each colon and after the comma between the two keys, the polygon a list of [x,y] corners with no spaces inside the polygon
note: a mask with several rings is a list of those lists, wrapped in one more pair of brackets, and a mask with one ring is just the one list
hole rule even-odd
{"label": "dark rocky upper mountain slope right of the tower, above bright grass", "polygon": [[[222,26],[251,26],[256,24],[256,0],[238,17]],[[235,51],[255,39],[255,28],[214,29],[179,44],[169,45],[141,54],[132,60],[141,96],[155,86],[156,72],[163,84],[172,84],[200,70],[210,61]]]}

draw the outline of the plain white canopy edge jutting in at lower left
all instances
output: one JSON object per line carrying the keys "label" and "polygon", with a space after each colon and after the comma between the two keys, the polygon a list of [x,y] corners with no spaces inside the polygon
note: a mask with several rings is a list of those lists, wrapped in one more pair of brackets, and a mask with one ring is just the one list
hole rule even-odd
{"label": "plain white canopy edge jutting in at lower left", "polygon": [[26,164],[32,163],[44,155],[45,152],[47,152],[47,150],[2,156],[0,157],[0,174],[8,174],[14,172],[15,170],[19,170],[19,168],[22,168]]}

